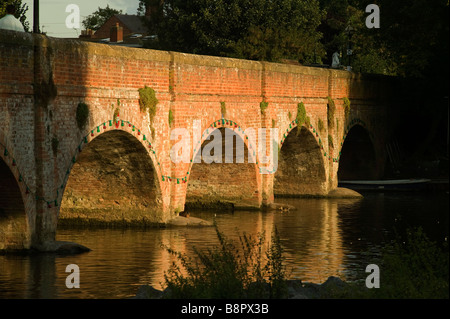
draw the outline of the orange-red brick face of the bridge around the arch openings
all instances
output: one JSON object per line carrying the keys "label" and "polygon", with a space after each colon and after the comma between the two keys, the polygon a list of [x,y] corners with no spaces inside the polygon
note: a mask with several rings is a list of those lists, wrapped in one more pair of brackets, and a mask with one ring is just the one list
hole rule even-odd
{"label": "orange-red brick face of the bridge around the arch openings", "polygon": [[[335,159],[351,120],[365,121],[367,130],[376,136],[376,153],[382,154],[384,145],[376,141],[385,140],[385,127],[378,128],[376,123],[386,113],[374,107],[387,106],[385,100],[380,101],[380,78],[370,78],[366,86],[364,78],[346,71],[109,46],[12,31],[0,34],[0,54],[0,151],[8,148],[16,161],[12,166],[11,157],[4,159],[19,185],[33,242],[54,238],[72,170],[83,150],[105,132],[124,131],[146,150],[141,154],[154,168],[154,194],[160,202],[158,222],[168,221],[176,210],[184,209],[190,179],[202,175],[201,165],[175,164],[170,159],[170,149],[176,143],[170,140],[171,130],[186,128],[192,138],[195,120],[202,133],[220,127],[240,132],[275,127],[283,147],[296,127],[297,105],[303,102],[311,123],[305,129],[309,130],[311,145],[315,142],[314,149],[320,149],[311,154],[317,156],[312,160],[317,167],[323,166],[324,180],[318,187],[324,193],[337,185],[339,163]],[[138,90],[144,86],[153,88],[159,100],[152,124],[154,137],[148,114],[139,108]],[[339,129],[328,129],[328,96],[336,102]],[[344,97],[352,101],[347,119]],[[261,112],[263,101],[268,107]],[[81,102],[88,105],[90,116],[80,129],[76,109]],[[225,114],[222,105],[226,106]],[[112,122],[116,110],[118,126]],[[170,124],[169,111],[173,114]],[[222,119],[227,122],[222,123]],[[325,123],[325,131],[320,133],[316,127],[319,119]],[[333,150],[328,149],[328,135],[333,137]],[[191,156],[205,138],[197,136]],[[243,139],[250,152],[259,143],[258,139],[247,140],[245,135]],[[246,167],[256,172],[251,181],[252,174],[230,174],[231,166],[219,168],[224,173],[223,183],[216,192],[226,193],[228,187],[235,192],[237,185],[245,182],[256,194],[256,206],[273,201],[276,172],[259,174],[261,164]],[[93,187],[92,196],[96,189],[98,198],[106,192]]]}

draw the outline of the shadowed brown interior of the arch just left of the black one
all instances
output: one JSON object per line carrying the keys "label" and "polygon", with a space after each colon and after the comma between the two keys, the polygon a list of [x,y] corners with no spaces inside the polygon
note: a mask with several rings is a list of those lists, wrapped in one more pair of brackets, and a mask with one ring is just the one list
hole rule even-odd
{"label": "shadowed brown interior of the arch just left of the black one", "polygon": [[294,128],[278,156],[273,192],[275,196],[319,196],[326,192],[326,175],[321,148],[305,127]]}

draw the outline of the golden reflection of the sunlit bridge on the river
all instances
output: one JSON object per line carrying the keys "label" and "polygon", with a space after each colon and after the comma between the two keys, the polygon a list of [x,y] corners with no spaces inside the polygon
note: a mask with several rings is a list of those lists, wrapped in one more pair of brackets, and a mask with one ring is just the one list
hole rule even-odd
{"label": "golden reflection of the sunlit bridge on the river", "polygon": [[[338,208],[357,206],[357,200],[285,199],[296,211],[216,214],[219,229],[237,240],[239,234],[264,233],[266,242],[274,227],[280,233],[288,274],[303,281],[321,282],[331,275],[345,277],[345,254]],[[196,215],[212,220],[214,213]],[[239,226],[236,226],[239,225]],[[75,240],[92,249],[78,256],[1,256],[0,297],[116,298],[132,296],[139,285],[161,287],[164,272],[175,258],[161,243],[193,256],[193,247],[218,245],[215,230],[168,229],[61,229],[59,240]],[[348,244],[348,243],[347,243]],[[65,267],[80,267],[80,289],[65,287]]]}

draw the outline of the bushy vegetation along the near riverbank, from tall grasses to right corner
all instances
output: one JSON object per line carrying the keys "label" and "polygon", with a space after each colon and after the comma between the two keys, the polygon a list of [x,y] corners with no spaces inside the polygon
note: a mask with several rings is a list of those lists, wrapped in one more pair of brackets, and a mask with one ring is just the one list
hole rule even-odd
{"label": "bushy vegetation along the near riverbank, from tall grasses to right corner", "polygon": [[[164,298],[289,298],[292,280],[287,277],[277,230],[265,251],[264,236],[240,235],[230,241],[216,227],[220,245],[195,250],[190,258],[168,247],[177,257],[165,274]],[[448,244],[431,241],[421,228],[408,229],[386,246],[380,260],[380,288],[368,289],[365,280],[342,284],[301,284],[297,292],[310,298],[445,299],[449,298]],[[368,273],[364,276],[369,275]],[[365,277],[364,277],[365,279]],[[331,280],[330,280],[331,282]],[[298,285],[298,281],[296,283]],[[303,290],[302,290],[303,289]],[[292,293],[292,290],[291,290]]]}

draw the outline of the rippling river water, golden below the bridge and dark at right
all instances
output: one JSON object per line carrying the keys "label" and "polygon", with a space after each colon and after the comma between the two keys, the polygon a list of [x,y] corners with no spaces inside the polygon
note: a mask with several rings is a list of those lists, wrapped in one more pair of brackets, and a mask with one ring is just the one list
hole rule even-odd
{"label": "rippling river water, golden below the bridge and dark at right", "polygon": [[[367,193],[361,200],[277,199],[288,212],[191,212],[215,220],[230,240],[276,227],[291,279],[320,283],[329,276],[362,280],[394,229],[422,226],[433,240],[448,238],[449,199],[440,193]],[[0,256],[0,298],[129,298],[139,286],[161,288],[175,260],[162,247],[193,256],[193,247],[218,244],[215,229],[58,229],[57,240],[92,249],[76,256]],[[80,269],[80,288],[68,289],[66,266]],[[382,269],[381,269],[382,271]]]}

